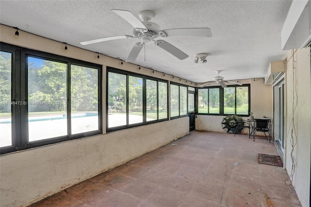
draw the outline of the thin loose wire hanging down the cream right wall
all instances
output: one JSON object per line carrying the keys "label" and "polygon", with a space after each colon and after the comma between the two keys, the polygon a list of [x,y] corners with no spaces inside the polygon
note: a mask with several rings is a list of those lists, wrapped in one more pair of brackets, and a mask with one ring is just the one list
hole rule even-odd
{"label": "thin loose wire hanging down the cream right wall", "polygon": [[297,133],[296,133],[296,127],[295,127],[295,122],[294,122],[294,115],[295,115],[295,111],[296,111],[296,108],[297,108],[297,105],[298,105],[298,99],[297,99],[297,97],[298,97],[298,92],[297,92],[297,69],[296,69],[296,62],[295,62],[295,59],[294,59],[294,53],[295,52],[294,52],[294,50],[292,50],[292,57],[293,57],[293,105],[292,105],[292,121],[291,121],[291,126],[292,127],[290,127],[290,129],[291,129],[291,146],[292,146],[292,150],[291,150],[292,170],[291,170],[291,174],[289,176],[289,179],[285,180],[285,184],[287,186],[290,186],[292,189],[294,189],[293,178],[294,178],[294,173],[295,173],[295,170],[296,170],[296,163],[297,163],[296,162],[296,158],[294,157],[294,148],[295,148],[296,143],[297,143]]}

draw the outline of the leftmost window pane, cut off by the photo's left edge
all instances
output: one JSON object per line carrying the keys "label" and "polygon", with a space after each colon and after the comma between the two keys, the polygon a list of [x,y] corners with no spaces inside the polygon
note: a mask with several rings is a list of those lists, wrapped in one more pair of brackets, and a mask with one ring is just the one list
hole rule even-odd
{"label": "leftmost window pane, cut off by the photo's left edge", "polygon": [[12,145],[11,74],[12,53],[0,52],[0,147]]}

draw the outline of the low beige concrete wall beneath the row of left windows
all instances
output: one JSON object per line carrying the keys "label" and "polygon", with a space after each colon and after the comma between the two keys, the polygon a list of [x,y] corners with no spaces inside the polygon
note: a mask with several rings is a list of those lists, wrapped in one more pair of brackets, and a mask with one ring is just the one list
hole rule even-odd
{"label": "low beige concrete wall beneath the row of left windows", "polygon": [[189,134],[189,117],[1,155],[1,207],[27,206]]}

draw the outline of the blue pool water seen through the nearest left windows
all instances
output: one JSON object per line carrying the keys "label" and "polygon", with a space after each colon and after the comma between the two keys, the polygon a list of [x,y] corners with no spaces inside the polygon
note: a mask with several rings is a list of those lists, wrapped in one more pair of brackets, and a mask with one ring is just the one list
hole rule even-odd
{"label": "blue pool water seen through the nearest left windows", "polygon": [[[71,114],[71,118],[94,117],[94,116],[98,116],[98,113]],[[67,115],[58,114],[58,115],[28,117],[28,121],[49,121],[49,120],[61,120],[61,119],[67,119]],[[11,123],[11,118],[0,119],[0,123]]]}

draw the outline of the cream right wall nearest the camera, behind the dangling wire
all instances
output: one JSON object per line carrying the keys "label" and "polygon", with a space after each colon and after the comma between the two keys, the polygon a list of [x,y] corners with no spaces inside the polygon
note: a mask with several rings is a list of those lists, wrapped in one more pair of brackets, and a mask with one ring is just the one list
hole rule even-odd
{"label": "cream right wall nearest the camera, behind the dangling wire", "polygon": [[[295,52],[296,50],[294,50]],[[296,160],[293,186],[303,207],[310,205],[310,166],[311,166],[311,59],[310,47],[287,53],[286,69],[286,148],[285,168],[292,173],[292,140],[296,143],[292,156]],[[295,68],[295,69],[293,69]],[[293,80],[296,78],[296,81]],[[294,90],[294,95],[293,95]],[[296,92],[297,93],[296,93]],[[296,109],[293,113],[293,103]],[[294,122],[293,122],[294,119]],[[293,125],[294,123],[294,125]],[[292,129],[296,134],[291,135]]]}

